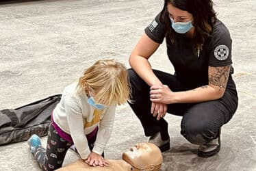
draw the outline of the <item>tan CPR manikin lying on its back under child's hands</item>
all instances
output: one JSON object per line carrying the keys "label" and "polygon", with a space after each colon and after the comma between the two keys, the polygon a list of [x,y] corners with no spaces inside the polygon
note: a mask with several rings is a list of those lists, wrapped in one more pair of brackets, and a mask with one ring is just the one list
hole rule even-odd
{"label": "tan CPR manikin lying on its back under child's hands", "polygon": [[151,143],[140,143],[130,148],[123,153],[123,159],[120,160],[108,160],[110,166],[108,167],[92,167],[88,166],[82,159],[75,161],[74,163],[68,164],[58,171],[78,171],[78,170],[118,170],[118,171],[129,171],[129,170],[153,170],[157,171],[160,169],[163,157],[162,153],[155,144]]}

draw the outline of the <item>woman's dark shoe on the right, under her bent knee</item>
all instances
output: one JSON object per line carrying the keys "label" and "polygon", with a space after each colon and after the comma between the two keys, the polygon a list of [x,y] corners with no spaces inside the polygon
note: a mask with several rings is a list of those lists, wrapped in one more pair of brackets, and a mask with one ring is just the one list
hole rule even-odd
{"label": "woman's dark shoe on the right, under her bent knee", "polygon": [[208,144],[203,144],[199,146],[199,157],[212,157],[217,155],[220,151],[220,131],[218,137]]}

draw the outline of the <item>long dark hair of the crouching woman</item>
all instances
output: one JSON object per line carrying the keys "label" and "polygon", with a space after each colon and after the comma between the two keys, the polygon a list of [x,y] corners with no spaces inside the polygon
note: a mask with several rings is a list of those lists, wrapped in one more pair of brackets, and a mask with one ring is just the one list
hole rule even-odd
{"label": "long dark hair of the crouching woman", "polygon": [[167,10],[168,3],[172,4],[180,10],[184,10],[193,15],[193,26],[194,31],[194,50],[201,48],[201,44],[209,37],[212,33],[214,23],[216,23],[216,12],[213,9],[214,3],[212,0],[164,0],[164,8],[162,10],[160,20],[164,23],[168,23],[166,36],[170,40],[175,42],[177,33],[172,29],[170,25],[169,14]]}

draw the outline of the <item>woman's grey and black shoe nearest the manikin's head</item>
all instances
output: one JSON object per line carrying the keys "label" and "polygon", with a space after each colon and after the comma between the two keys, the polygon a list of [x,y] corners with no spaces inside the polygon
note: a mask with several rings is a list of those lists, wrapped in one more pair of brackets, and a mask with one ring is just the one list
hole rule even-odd
{"label": "woman's grey and black shoe nearest the manikin's head", "polygon": [[170,137],[167,140],[162,140],[161,133],[158,132],[149,138],[149,142],[155,144],[162,152],[170,149]]}

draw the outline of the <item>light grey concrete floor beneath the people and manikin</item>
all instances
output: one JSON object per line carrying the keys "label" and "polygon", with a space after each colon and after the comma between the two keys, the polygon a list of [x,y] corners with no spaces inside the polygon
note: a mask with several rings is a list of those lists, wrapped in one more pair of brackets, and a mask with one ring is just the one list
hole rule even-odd
{"label": "light grey concrete floor beneath the people and manikin", "polygon": [[[180,134],[181,118],[166,116],[171,149],[162,170],[256,170],[256,1],[215,0],[218,18],[233,38],[234,79],[239,92],[235,116],[222,128],[215,157],[196,156],[197,146]],[[0,108],[14,108],[62,92],[92,62],[128,57],[162,0],[51,0],[0,5]],[[153,68],[173,72],[162,45]],[[125,127],[124,127],[125,125]],[[140,122],[128,105],[118,107],[108,159],[145,142]],[[42,138],[45,145],[46,138]],[[0,146],[0,170],[38,170],[27,142]],[[68,151],[64,164],[78,159]]]}

